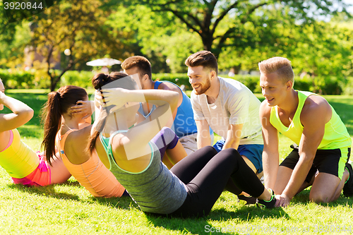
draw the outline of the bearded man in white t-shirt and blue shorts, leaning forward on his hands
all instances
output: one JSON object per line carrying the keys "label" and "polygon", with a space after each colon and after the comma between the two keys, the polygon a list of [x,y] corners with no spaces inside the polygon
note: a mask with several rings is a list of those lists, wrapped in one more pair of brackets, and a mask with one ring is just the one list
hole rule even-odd
{"label": "bearded man in white t-shirt and blue shorts, leaning forward on his hands", "polygon": [[198,148],[211,145],[208,128],[222,137],[213,147],[217,151],[233,147],[246,164],[263,174],[263,137],[259,108],[261,102],[245,85],[217,76],[215,56],[208,51],[191,54],[185,61],[193,87],[191,104],[198,128]]}

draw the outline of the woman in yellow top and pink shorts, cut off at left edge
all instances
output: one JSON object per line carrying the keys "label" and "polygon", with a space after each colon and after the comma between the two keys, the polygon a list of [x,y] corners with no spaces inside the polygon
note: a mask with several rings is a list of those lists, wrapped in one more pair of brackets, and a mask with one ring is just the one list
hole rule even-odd
{"label": "woman in yellow top and pink shorts, cut off at left edge", "polygon": [[0,165],[12,177],[14,183],[25,186],[47,186],[63,183],[71,174],[61,159],[52,157],[47,164],[45,157],[36,154],[20,140],[18,127],[24,125],[33,116],[33,110],[27,104],[5,95],[4,84],[0,80],[0,110],[4,106],[10,114],[0,114]]}

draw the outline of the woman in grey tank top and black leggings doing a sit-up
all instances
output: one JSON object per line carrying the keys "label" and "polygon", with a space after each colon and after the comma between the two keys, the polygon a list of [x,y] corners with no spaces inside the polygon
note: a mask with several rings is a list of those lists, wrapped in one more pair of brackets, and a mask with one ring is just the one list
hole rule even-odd
{"label": "woman in grey tank top and black leggings doing a sit-up", "polygon": [[[96,112],[88,145],[126,188],[141,210],[157,215],[197,217],[208,215],[227,181],[274,207],[275,197],[246,165],[237,150],[219,153],[203,147],[174,165],[169,171],[160,161],[160,151],[151,139],[170,119],[177,107],[178,93],[169,90],[136,90],[132,78],[121,73],[95,76]],[[138,102],[155,104],[150,119],[138,125]]]}

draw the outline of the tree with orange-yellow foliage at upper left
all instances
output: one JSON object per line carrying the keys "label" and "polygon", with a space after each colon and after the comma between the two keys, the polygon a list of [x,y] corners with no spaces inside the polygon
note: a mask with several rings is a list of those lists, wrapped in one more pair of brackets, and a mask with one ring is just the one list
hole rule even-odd
{"label": "tree with orange-yellow foliage at upper left", "polygon": [[[66,71],[89,59],[107,55],[116,59],[128,56],[128,50],[124,51],[124,44],[119,41],[128,35],[121,35],[104,24],[109,13],[100,6],[102,1],[99,0],[65,0],[46,9],[44,16],[35,16],[33,23],[37,27],[32,32],[32,46],[44,56],[41,66],[50,77],[50,90],[55,90]],[[68,62],[57,74],[52,69],[52,59],[66,49],[70,52]]]}

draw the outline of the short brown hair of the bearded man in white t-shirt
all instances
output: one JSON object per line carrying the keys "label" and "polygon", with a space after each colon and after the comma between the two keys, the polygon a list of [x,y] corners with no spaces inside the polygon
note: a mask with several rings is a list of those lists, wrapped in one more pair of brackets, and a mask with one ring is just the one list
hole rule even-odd
{"label": "short brown hair of the bearded man in white t-shirt", "polygon": [[201,51],[191,54],[185,61],[186,66],[196,67],[203,66],[203,68],[210,68],[218,74],[218,64],[215,55],[209,51]]}

